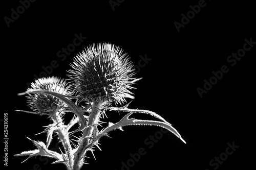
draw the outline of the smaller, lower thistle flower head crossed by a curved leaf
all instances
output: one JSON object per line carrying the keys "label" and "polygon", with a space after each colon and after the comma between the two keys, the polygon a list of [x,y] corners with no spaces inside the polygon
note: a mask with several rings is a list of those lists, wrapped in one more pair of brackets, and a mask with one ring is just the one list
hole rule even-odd
{"label": "smaller, lower thistle flower head crossed by a curved leaf", "polygon": [[[36,89],[48,90],[63,95],[71,95],[70,86],[64,79],[58,77],[48,77],[35,80],[31,83],[31,88],[27,91]],[[51,94],[29,93],[27,96],[28,106],[37,113],[51,114],[56,110],[67,107],[67,105]]]}

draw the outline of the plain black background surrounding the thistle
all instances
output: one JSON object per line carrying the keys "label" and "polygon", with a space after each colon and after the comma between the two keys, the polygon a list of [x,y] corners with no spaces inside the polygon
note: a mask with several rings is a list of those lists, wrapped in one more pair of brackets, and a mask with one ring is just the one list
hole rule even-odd
{"label": "plain black background surrounding the thistle", "polygon": [[[213,169],[209,161],[226,151],[227,143],[240,147],[229,155],[218,169],[237,169],[252,166],[254,142],[252,117],[255,105],[255,46],[231,66],[226,59],[243,47],[245,38],[256,41],[255,9],[246,1],[206,1],[193,19],[177,32],[174,22],[181,22],[190,5],[198,1],[123,1],[114,11],[109,1],[36,1],[10,23],[11,9],[19,1],[2,2],[2,119],[8,113],[8,168],[64,169],[53,160],[31,158],[14,154],[35,149],[26,137],[46,140],[45,134],[34,136],[50,123],[45,116],[20,113],[29,110],[25,96],[17,96],[34,81],[42,66],[53,60],[59,64],[49,76],[67,78],[69,64],[77,53],[92,43],[110,42],[129,54],[135,65],[140,55],[150,58],[140,68],[135,100],[130,108],[154,111],[169,120],[180,132],[184,144],[172,133],[163,134],[153,148],[144,140],[160,130],[158,127],[124,127],[124,131],[110,133],[102,138],[101,149],[82,169],[121,169],[121,162],[131,159],[130,153],[144,148],[146,154],[130,169]],[[121,2],[121,1],[120,1]],[[74,34],[87,37],[65,61],[57,57],[62,47],[73,42]],[[253,60],[253,61],[252,61]],[[229,72],[201,99],[197,88],[209,80],[212,71],[227,65]],[[124,113],[109,113],[110,122],[117,122]],[[140,118],[152,118],[141,115]],[[1,122],[3,127],[3,122]],[[57,141],[57,140],[56,140]],[[56,142],[55,141],[55,142]],[[59,147],[61,145],[59,144]],[[4,145],[1,151],[4,150]],[[4,152],[2,152],[4,154]],[[3,155],[2,154],[2,159]],[[4,164],[1,161],[1,164]]]}

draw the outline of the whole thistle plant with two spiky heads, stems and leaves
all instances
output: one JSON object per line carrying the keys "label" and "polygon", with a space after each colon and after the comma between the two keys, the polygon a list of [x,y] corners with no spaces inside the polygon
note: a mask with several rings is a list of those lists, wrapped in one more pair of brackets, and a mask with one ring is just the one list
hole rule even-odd
{"label": "whole thistle plant with two spiky heads, stems and leaves", "polygon": [[[17,111],[47,115],[52,124],[43,131],[47,134],[46,143],[30,139],[37,149],[14,156],[28,156],[27,159],[47,156],[56,159],[53,163],[65,164],[68,170],[79,170],[86,163],[87,152],[99,148],[101,137],[130,125],[162,127],[186,143],[160,115],[148,110],[130,109],[126,104],[126,98],[134,99],[131,90],[140,79],[134,78],[133,64],[121,48],[108,43],[93,44],[78,54],[70,65],[69,79],[41,78],[27,91],[18,94],[27,95],[32,111]],[[115,107],[117,105],[121,106]],[[105,125],[102,118],[107,117],[109,111],[126,112],[126,115],[117,123]],[[65,124],[63,118],[68,112],[73,114],[73,118]],[[159,121],[130,118],[136,113],[152,115]],[[74,125],[78,128],[71,130]],[[63,145],[60,153],[48,149],[53,134],[57,134]]]}

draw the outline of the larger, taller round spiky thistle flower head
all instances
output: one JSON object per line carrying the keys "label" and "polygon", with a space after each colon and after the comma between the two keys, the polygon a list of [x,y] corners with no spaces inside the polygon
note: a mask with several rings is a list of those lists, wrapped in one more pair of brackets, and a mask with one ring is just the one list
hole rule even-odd
{"label": "larger, taller round spiky thistle flower head", "polygon": [[98,43],[78,54],[68,70],[74,93],[83,100],[123,103],[132,98],[133,65],[114,44]]}

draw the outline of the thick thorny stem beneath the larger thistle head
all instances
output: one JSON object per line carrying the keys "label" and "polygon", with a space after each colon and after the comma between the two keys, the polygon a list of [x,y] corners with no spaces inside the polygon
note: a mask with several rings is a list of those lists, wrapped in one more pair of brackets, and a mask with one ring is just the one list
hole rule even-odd
{"label": "thick thorny stem beneath the larger thistle head", "polygon": [[88,149],[88,145],[92,141],[93,138],[93,130],[95,126],[97,126],[99,122],[99,115],[101,113],[101,109],[103,108],[103,102],[94,102],[91,106],[92,111],[89,116],[89,121],[86,124],[86,128],[83,130],[83,135],[81,141],[79,142],[78,150],[76,151],[74,163],[73,163],[73,170],[80,170],[83,165],[83,158],[85,153]]}

